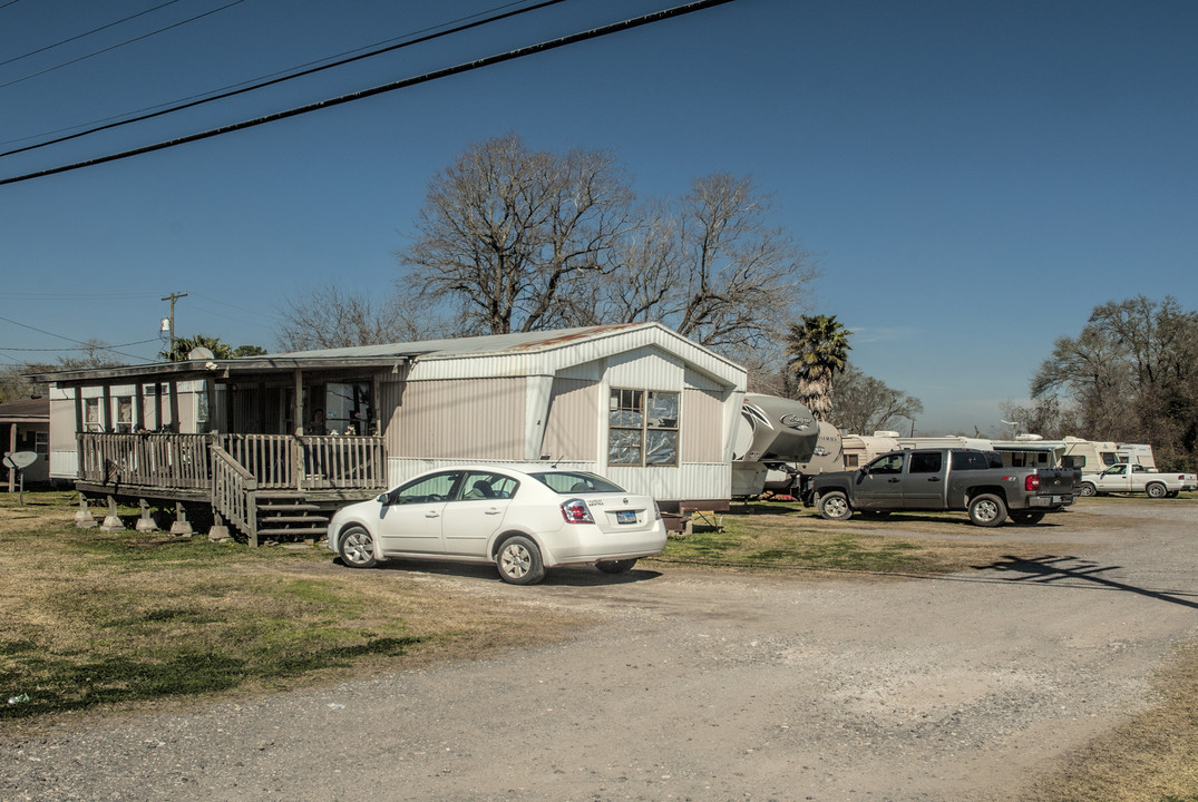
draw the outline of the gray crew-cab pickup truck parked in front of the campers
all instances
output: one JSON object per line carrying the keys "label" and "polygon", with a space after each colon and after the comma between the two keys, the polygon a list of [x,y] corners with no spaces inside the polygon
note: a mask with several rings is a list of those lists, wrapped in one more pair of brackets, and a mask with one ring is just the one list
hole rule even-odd
{"label": "gray crew-cab pickup truck parked in front of the campers", "polygon": [[968,510],[979,527],[1040,523],[1073,503],[1072,468],[992,467],[976,449],[912,449],[883,454],[864,468],[816,476],[806,500],[829,521],[853,510]]}

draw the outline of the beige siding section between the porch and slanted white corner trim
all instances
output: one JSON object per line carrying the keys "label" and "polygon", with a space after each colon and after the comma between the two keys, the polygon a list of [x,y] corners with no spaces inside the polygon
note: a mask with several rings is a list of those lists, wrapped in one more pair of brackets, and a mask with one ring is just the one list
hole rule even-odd
{"label": "beige siding section between the porch and slanted white corner trim", "polygon": [[521,460],[524,424],[524,379],[410,381],[388,448],[406,457]]}

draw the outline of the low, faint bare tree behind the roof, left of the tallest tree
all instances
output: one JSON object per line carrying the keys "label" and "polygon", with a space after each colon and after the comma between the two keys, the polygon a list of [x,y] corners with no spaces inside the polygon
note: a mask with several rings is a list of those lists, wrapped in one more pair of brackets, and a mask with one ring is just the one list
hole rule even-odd
{"label": "low, faint bare tree behind the roof, left of the tallest tree", "polygon": [[328,284],[285,299],[278,316],[283,351],[412,342],[443,336],[448,329],[435,310],[398,287],[376,300]]}

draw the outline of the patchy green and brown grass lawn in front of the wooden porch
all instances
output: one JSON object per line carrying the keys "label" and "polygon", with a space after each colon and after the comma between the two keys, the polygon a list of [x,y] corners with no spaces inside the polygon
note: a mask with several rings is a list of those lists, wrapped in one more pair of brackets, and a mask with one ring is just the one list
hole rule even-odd
{"label": "patchy green and brown grass lawn in front of the wooden porch", "polygon": [[519,603],[349,571],[319,548],[78,529],[72,497],[0,493],[0,727],[468,658],[577,625],[538,609],[527,626]]}

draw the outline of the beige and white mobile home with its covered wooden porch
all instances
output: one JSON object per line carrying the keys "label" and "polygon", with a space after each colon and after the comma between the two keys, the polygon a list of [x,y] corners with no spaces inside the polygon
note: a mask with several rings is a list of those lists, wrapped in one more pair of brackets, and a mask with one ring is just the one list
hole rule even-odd
{"label": "beige and white mobile home with its covered wooden porch", "polygon": [[[745,376],[634,323],[36,378],[83,498],[211,505],[256,542],[262,509],[327,511],[462,462],[551,462],[666,510],[726,509]],[[286,536],[274,523],[296,516],[278,517],[265,530]]]}

